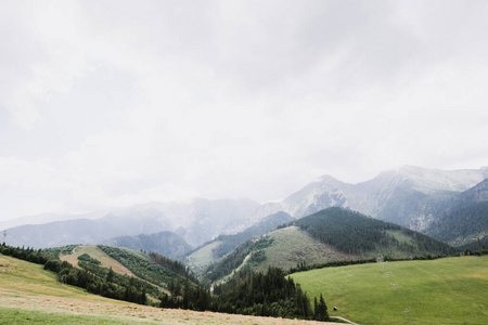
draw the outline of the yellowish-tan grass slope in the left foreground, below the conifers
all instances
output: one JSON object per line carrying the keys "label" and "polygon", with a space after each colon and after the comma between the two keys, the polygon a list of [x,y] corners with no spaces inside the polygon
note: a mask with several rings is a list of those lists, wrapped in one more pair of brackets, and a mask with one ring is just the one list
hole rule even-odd
{"label": "yellowish-tan grass slope in the left foreground, below the conifers", "polygon": [[56,275],[0,255],[0,324],[324,324],[317,322],[162,310],[103,298],[63,285]]}

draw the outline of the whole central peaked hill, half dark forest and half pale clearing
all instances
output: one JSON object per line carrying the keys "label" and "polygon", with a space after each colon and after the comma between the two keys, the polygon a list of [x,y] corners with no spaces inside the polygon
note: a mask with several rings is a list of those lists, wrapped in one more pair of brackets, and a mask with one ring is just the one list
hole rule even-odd
{"label": "whole central peaked hill, half dark forest and half pale clearing", "polygon": [[329,208],[253,238],[209,265],[204,280],[216,282],[235,270],[284,270],[299,263],[374,259],[403,259],[445,255],[454,249],[399,225],[342,208]]}

